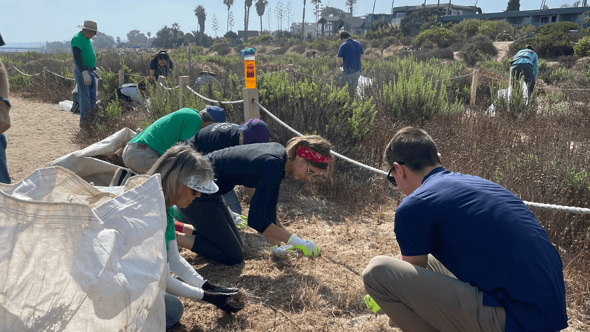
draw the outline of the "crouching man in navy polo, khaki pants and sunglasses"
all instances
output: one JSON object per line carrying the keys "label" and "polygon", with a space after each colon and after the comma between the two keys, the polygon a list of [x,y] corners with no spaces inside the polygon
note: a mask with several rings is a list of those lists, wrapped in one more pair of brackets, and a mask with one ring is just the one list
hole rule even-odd
{"label": "crouching man in navy polo, khaki pants and sunglasses", "polygon": [[445,170],[432,138],[398,131],[388,180],[402,259],[377,256],[365,289],[402,331],[555,332],[568,327],[562,262],[545,230],[506,188]]}

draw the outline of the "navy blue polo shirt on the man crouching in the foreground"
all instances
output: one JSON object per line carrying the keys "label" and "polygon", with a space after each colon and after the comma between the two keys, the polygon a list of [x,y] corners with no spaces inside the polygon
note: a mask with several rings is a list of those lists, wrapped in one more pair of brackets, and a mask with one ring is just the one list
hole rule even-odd
{"label": "navy blue polo shirt on the man crouching in the foreground", "polygon": [[483,178],[432,170],[395,212],[404,256],[431,253],[506,311],[506,332],[568,327],[562,262],[518,197]]}

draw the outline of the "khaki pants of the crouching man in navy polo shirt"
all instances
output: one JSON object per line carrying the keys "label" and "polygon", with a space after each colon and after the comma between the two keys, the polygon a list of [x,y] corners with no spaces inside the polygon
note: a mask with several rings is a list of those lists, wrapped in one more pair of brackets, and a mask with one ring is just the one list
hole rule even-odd
{"label": "khaki pants of the crouching man in navy polo shirt", "polygon": [[404,332],[504,331],[504,308],[483,305],[482,291],[459,281],[432,255],[427,267],[376,256],[363,272],[365,289]]}

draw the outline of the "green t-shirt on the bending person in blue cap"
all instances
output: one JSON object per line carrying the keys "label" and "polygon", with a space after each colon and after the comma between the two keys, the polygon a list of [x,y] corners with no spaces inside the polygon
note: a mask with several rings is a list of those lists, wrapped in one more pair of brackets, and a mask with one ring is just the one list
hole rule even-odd
{"label": "green t-shirt on the bending person in blue cap", "polygon": [[201,122],[198,110],[181,108],[162,116],[129,142],[146,144],[161,156],[177,142],[195,136],[201,128]]}

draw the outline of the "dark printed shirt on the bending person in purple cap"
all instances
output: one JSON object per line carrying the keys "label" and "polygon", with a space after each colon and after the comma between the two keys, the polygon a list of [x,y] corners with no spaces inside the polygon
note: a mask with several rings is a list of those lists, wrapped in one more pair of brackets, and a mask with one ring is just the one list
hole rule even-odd
{"label": "dark printed shirt on the bending person in purple cap", "polygon": [[196,132],[188,142],[202,154],[235,147],[240,144],[241,128],[241,125],[235,123],[213,123]]}

